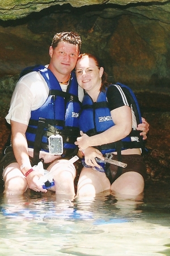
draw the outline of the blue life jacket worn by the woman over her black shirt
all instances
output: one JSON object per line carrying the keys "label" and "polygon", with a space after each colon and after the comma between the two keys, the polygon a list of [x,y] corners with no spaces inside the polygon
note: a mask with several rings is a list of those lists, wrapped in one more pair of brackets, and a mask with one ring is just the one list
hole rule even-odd
{"label": "blue life jacket worn by the woman over her black shirt", "polygon": [[[133,108],[137,125],[142,123],[141,112],[135,94],[128,86],[120,83],[117,83],[117,85],[121,86],[125,96],[129,98],[129,104],[131,104]],[[111,111],[108,107],[107,89],[108,88],[106,88],[105,92],[99,93],[96,102],[93,102],[92,98],[88,94],[86,94],[83,98],[82,111],[79,115],[79,125],[80,130],[82,130],[83,133],[86,133],[88,136],[103,133],[103,131],[114,126]],[[88,122],[86,122],[87,118]],[[97,146],[97,148],[102,152],[102,154],[107,154],[114,151],[121,152],[127,148],[141,148],[143,147],[143,138],[139,134],[140,131],[132,129],[131,133],[124,139],[121,139],[121,141],[103,144],[101,146]],[[138,137],[138,141],[131,141],[131,137]]]}

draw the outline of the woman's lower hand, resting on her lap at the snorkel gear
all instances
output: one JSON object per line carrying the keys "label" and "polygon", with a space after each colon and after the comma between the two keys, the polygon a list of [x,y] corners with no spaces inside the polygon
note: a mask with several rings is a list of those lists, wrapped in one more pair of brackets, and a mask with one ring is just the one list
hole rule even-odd
{"label": "woman's lower hand, resting on her lap at the snorkel gear", "polygon": [[88,147],[88,148],[86,148],[86,150],[83,150],[83,153],[84,153],[85,163],[88,166],[92,166],[92,167],[96,166],[96,167],[100,168],[100,166],[99,166],[99,164],[97,164],[95,158],[100,158],[101,160],[104,160],[104,157],[99,150],[97,150],[94,147]]}

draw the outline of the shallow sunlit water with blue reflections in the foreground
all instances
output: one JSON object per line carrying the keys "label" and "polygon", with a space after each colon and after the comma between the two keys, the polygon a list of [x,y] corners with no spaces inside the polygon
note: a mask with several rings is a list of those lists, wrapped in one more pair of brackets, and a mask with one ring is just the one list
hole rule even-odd
{"label": "shallow sunlit water with blue reflections in the foreground", "polygon": [[1,194],[0,255],[170,255],[168,182],[148,184],[143,199]]}

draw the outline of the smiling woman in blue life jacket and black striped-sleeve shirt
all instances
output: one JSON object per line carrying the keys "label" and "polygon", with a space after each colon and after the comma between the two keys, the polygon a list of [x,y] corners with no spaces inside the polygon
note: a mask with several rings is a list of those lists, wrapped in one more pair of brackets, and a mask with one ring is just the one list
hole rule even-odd
{"label": "smiling woman in blue life jacket and black striped-sleeve shirt", "polygon": [[[79,137],[75,144],[82,150],[86,164],[91,166],[82,169],[77,196],[95,196],[96,193],[107,190],[122,195],[139,195],[143,192],[146,175],[141,148],[123,148],[121,154],[117,155],[118,147],[112,151],[111,146],[113,142],[128,138],[132,127],[137,130],[137,122],[128,98],[120,86],[108,85],[107,75],[93,55],[84,53],[78,57],[76,78],[78,84],[86,91],[86,95],[83,99],[84,112],[82,111],[79,118],[82,137]],[[94,108],[92,111],[89,104]],[[99,111],[96,110],[97,104],[104,104]],[[100,115],[101,110],[103,112]],[[133,140],[137,139],[133,137]],[[128,166],[122,170],[113,165],[105,167],[107,175],[97,171],[94,167],[100,166],[95,158],[104,159],[103,154],[96,148],[100,145],[104,145],[105,149],[101,151],[103,154],[112,151],[114,159],[120,160],[120,157]]]}

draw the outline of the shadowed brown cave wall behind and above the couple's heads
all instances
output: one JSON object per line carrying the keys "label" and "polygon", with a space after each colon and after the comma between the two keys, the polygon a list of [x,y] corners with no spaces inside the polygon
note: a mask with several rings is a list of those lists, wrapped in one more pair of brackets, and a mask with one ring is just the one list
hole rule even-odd
{"label": "shadowed brown cave wall behind and above the couple's heads", "polygon": [[[20,2],[21,11],[24,1]],[[56,2],[60,1],[52,4]],[[76,3],[80,5],[81,1]],[[34,5],[33,1],[29,12]],[[39,1],[36,5],[41,6]],[[0,20],[0,86],[5,86],[6,75],[19,74],[28,65],[48,63],[53,35],[72,30],[82,37],[82,52],[95,53],[103,61],[110,81],[123,82],[136,91],[169,93],[168,9],[167,3],[83,7],[65,4],[32,12],[22,19]],[[16,5],[16,14],[15,10]]]}

